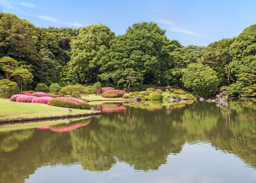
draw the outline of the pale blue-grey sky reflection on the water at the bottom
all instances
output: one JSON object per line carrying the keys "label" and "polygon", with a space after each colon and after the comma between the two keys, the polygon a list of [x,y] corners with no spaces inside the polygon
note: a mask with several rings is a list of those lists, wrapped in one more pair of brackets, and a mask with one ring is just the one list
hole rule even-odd
{"label": "pale blue-grey sky reflection on the water at the bottom", "polygon": [[[241,176],[243,173],[243,176]],[[80,164],[43,166],[26,179],[40,182],[255,182],[252,168],[234,154],[225,154],[211,145],[186,143],[182,152],[168,155],[167,163],[155,171],[134,171],[126,163],[116,163],[110,170],[83,170]]]}

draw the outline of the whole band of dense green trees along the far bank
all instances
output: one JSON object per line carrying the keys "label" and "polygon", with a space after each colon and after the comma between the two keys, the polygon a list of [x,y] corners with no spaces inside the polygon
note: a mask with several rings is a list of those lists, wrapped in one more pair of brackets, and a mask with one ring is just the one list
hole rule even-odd
{"label": "whole band of dense green trees along the far bank", "polygon": [[[184,47],[165,33],[154,22],[133,24],[120,36],[103,24],[36,28],[17,15],[0,12],[0,79],[23,82],[26,90],[38,83],[88,86],[100,82],[134,91],[153,84],[198,95],[221,91],[256,96],[256,24],[236,38],[207,47]],[[8,57],[17,61],[12,68]],[[31,73],[32,77],[26,80],[20,72],[10,73],[20,68],[23,76]]]}

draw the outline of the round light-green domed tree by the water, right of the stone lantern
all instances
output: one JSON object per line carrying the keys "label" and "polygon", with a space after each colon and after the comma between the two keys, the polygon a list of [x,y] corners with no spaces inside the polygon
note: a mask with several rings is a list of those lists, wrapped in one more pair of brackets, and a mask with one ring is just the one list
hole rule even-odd
{"label": "round light-green domed tree by the water, right of the stone lantern", "polygon": [[182,82],[188,90],[199,95],[217,92],[220,83],[216,72],[202,63],[189,64],[182,77]]}

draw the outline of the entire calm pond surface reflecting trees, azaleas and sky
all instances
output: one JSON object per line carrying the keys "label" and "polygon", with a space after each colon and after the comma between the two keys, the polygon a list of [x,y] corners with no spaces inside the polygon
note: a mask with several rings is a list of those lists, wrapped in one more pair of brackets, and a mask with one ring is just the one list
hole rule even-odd
{"label": "entire calm pond surface reflecting trees, azaleas and sky", "polygon": [[256,182],[256,99],[106,103],[0,127],[0,182]]}

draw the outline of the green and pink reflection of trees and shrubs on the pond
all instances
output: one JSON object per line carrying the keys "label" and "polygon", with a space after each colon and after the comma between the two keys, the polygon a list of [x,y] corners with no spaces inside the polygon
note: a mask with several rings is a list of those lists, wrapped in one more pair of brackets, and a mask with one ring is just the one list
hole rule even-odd
{"label": "green and pink reflection of trees and shrubs on the pond", "polygon": [[[179,154],[184,144],[198,142],[235,154],[256,169],[255,99],[232,100],[223,109],[191,101],[97,108],[106,113],[49,125],[47,130],[0,132],[0,180],[24,182],[45,163],[78,162],[84,170],[101,172],[124,162],[134,170],[158,170],[169,154]],[[111,113],[115,111],[119,113]]]}

